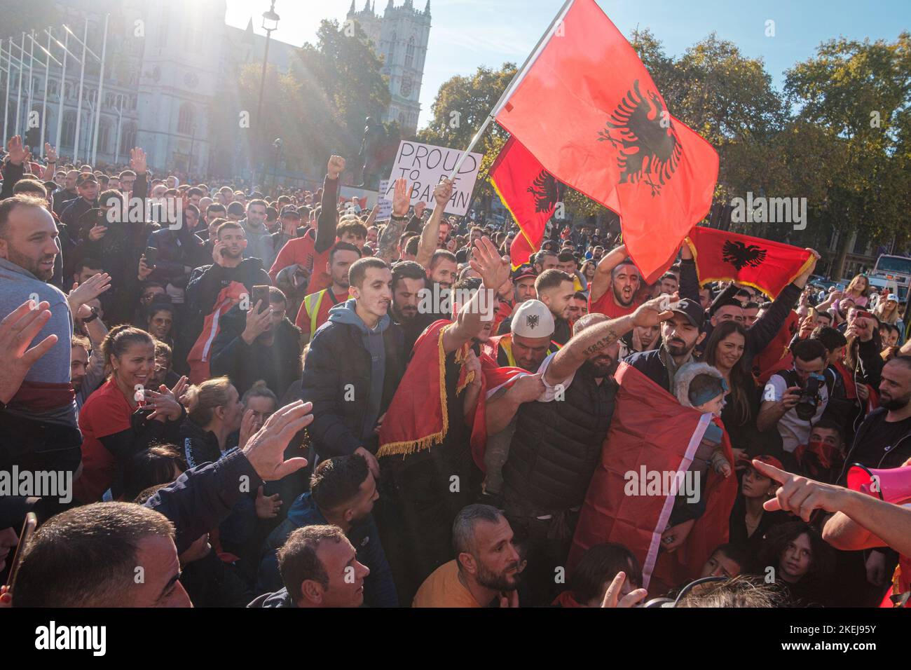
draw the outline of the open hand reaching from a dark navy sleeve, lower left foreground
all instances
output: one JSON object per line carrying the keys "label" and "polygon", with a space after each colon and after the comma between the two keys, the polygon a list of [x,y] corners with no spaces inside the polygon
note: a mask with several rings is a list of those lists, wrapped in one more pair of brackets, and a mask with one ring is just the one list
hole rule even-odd
{"label": "open hand reaching from a dark navy sleeve, lower left foreground", "polygon": [[298,457],[285,460],[284,450],[291,438],[310,425],[313,420],[310,413],[312,408],[312,403],[303,400],[281,407],[247,441],[243,453],[260,479],[274,481],[306,467],[307,459]]}

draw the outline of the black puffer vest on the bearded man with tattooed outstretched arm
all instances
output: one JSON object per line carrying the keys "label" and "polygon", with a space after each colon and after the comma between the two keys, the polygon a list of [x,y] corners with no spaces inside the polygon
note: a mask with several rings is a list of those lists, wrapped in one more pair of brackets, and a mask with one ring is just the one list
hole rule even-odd
{"label": "black puffer vest on the bearded man with tattooed outstretched arm", "polygon": [[520,406],[503,467],[507,506],[521,513],[578,507],[589,489],[614,412],[617,386],[583,364],[563,400]]}

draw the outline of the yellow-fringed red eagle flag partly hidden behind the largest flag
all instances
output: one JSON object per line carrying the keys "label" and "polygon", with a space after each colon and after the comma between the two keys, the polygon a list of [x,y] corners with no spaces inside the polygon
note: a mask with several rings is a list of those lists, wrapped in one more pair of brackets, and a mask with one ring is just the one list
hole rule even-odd
{"label": "yellow-fringed red eagle flag partly hidden behind the largest flag", "polygon": [[557,209],[561,184],[516,138],[509,138],[500,149],[488,176],[496,195],[518,223],[520,234],[509,248],[515,270],[541,248],[545,226]]}

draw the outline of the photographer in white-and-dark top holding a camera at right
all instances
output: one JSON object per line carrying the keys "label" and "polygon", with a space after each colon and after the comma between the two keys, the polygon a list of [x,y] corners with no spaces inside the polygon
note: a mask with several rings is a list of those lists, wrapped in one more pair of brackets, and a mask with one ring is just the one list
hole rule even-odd
{"label": "photographer in white-and-dark top holding a camera at right", "polygon": [[769,378],[756,417],[760,431],[778,429],[788,454],[807,444],[811,425],[823,416],[829,402],[823,376],[828,360],[825,345],[819,340],[801,340],[791,351],[793,366]]}

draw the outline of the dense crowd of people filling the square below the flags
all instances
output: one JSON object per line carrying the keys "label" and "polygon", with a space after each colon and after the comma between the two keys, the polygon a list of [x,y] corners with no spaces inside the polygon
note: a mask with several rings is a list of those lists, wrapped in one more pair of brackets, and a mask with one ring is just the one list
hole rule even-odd
{"label": "dense crowd of people filling the square below the flags", "polygon": [[[819,292],[809,250],[777,295],[701,285],[681,244],[647,283],[565,222],[513,267],[448,180],[414,207],[396,181],[381,221],[339,156],[276,197],[6,149],[0,471],[72,495],[2,491],[0,605],[907,602],[911,509],[846,487],[911,466],[911,345],[864,275]],[[659,400],[711,419],[702,495],[657,494],[654,547],[580,540],[619,421]],[[705,560],[662,582],[654,551]]]}

